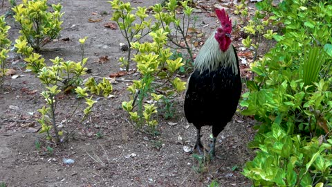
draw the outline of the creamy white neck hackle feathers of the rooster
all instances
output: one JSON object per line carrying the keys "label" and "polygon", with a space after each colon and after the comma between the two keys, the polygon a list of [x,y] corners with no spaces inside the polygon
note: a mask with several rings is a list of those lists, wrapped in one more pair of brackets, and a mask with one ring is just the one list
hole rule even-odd
{"label": "creamy white neck hackle feathers of the rooster", "polygon": [[232,71],[235,75],[238,74],[237,69],[237,57],[234,53],[232,43],[228,47],[227,51],[223,52],[219,48],[219,43],[212,34],[205,42],[200,52],[197,55],[194,62],[194,69],[198,69],[201,73],[205,70],[215,71],[219,67],[232,67]]}

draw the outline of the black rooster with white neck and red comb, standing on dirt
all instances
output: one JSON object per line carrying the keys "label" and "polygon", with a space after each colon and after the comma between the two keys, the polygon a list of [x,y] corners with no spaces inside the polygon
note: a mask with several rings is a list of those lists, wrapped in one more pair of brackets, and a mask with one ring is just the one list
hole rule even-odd
{"label": "black rooster with white neck and red comb, standing on dirt", "polygon": [[216,137],[237,110],[241,96],[241,76],[237,51],[232,45],[232,20],[224,9],[216,9],[221,26],[205,41],[194,60],[194,71],[187,81],[184,112],[196,127],[194,150],[204,154],[201,127],[212,126],[210,156],[215,156]]}

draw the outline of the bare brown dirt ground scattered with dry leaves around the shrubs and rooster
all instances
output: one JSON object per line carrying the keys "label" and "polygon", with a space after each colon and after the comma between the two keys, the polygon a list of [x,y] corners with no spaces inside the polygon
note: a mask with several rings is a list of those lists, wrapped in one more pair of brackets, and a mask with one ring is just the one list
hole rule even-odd
{"label": "bare brown dirt ground scattered with dry leaves around the shrubs and rooster", "polygon": [[[92,71],[88,76],[108,77],[119,71],[118,58],[127,53],[119,49],[119,44],[124,43],[120,30],[104,27],[112,14],[107,1],[48,3],[62,3],[65,14],[61,36],[44,47],[42,55],[46,60],[59,56],[64,60],[80,61],[77,41],[88,36],[85,55],[89,57],[88,68]],[[133,0],[131,3],[150,6],[160,1]],[[229,1],[200,3],[210,7],[232,6]],[[5,1],[1,14],[8,9],[8,1]],[[103,15],[105,12],[107,14]],[[208,16],[210,10],[205,9],[194,14],[199,17],[196,27],[204,30],[208,37],[216,28],[216,17]],[[89,22],[88,19],[102,20]],[[9,35],[14,43],[19,26],[12,17],[6,21],[12,27]],[[207,24],[208,27],[203,28]],[[64,38],[69,41],[62,40]],[[234,45],[241,46],[241,38],[235,37]],[[95,62],[104,55],[109,56],[109,62]],[[184,146],[192,148],[196,140],[194,126],[188,124],[183,115],[183,96],[176,100],[176,116],[170,121],[161,119],[160,135],[152,137],[134,130],[127,121],[121,102],[128,98],[126,88],[129,84],[121,81],[113,84],[115,97],[98,98],[89,120],[75,131],[75,139],[54,147],[52,154],[44,148],[37,151],[35,141],[44,137],[35,132],[40,126],[35,122],[37,109],[44,105],[40,96],[42,85],[33,73],[26,72],[25,63],[17,55],[11,53],[8,66],[15,69],[17,75],[24,76],[7,77],[5,90],[0,92],[0,182],[6,186],[208,186],[212,180],[218,181],[220,186],[251,186],[240,172],[253,155],[246,144],[255,134],[252,130],[255,121],[234,115],[217,139],[216,154],[221,159],[204,163],[203,171],[197,172],[193,167],[198,167],[199,162],[183,150]],[[124,76],[127,80],[136,78],[134,74]],[[64,95],[59,100],[59,124],[70,116],[75,100],[73,95]],[[82,116],[80,112],[77,115]],[[74,119],[63,125],[72,129],[77,123]],[[98,139],[96,134],[102,134],[102,137]],[[205,145],[210,143],[210,134],[209,127],[203,128]],[[64,164],[63,159],[73,159],[75,163]]]}

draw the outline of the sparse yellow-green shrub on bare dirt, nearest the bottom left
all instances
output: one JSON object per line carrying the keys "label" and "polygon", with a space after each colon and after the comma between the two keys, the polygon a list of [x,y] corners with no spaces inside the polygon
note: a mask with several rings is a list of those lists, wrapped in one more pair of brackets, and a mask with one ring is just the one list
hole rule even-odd
{"label": "sparse yellow-green shrub on bare dirt, nearest the bottom left", "polygon": [[[103,94],[105,97],[112,91],[110,82],[105,78],[98,84],[93,78],[89,78],[86,82],[86,87],[80,87],[83,82],[81,77],[86,74],[87,70],[85,66],[88,59],[84,58],[84,43],[86,39],[87,37],[84,37],[79,40],[82,52],[81,62],[73,62],[71,60],[64,61],[62,58],[55,57],[55,59],[50,59],[50,62],[53,63],[52,66],[46,66],[42,55],[33,53],[32,47],[27,45],[26,40],[21,41],[17,39],[17,44],[15,44],[17,53],[28,56],[24,59],[28,62],[27,69],[31,69],[33,73],[36,73],[45,88],[45,90],[42,91],[42,96],[46,100],[46,106],[38,110],[42,115],[37,122],[42,125],[42,130],[40,130],[39,133],[45,133],[48,141],[52,141],[53,136],[55,136],[56,143],[64,142],[71,134],[71,132],[64,134],[63,130],[58,130],[56,124],[55,109],[57,107],[57,96],[59,94],[75,91],[79,99],[76,109],[82,104],[81,98],[84,98],[86,108],[83,110],[84,116],[80,121],[80,123],[82,123],[86,117],[89,116],[93,105],[96,103],[95,100],[91,99],[92,96],[89,98],[88,91],[90,91],[91,94]],[[73,111],[73,114],[76,112],[76,109]],[[73,114],[71,114],[71,117]],[[54,134],[50,132],[52,127]]]}

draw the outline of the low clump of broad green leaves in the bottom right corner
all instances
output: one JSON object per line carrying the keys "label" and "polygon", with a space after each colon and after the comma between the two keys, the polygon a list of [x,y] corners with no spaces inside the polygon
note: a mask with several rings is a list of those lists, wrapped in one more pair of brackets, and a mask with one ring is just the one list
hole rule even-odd
{"label": "low clump of broad green leaves in the bottom right corner", "polygon": [[332,179],[332,141],[320,141],[289,135],[274,123],[270,132],[250,143],[260,151],[246,163],[243,175],[253,179],[254,186],[313,186],[317,178],[327,184]]}

